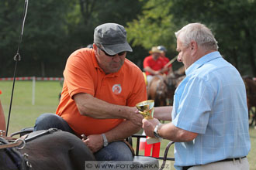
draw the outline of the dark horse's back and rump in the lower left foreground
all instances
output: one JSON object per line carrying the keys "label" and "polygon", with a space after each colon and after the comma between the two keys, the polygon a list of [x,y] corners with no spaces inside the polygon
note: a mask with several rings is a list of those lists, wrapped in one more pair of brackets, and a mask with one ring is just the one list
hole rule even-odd
{"label": "dark horse's back and rump in the lower left foreground", "polygon": [[[92,151],[74,134],[41,134],[43,131],[29,134],[22,149],[0,149],[0,170],[85,170],[85,161],[95,161]],[[7,145],[6,141],[2,143]]]}

